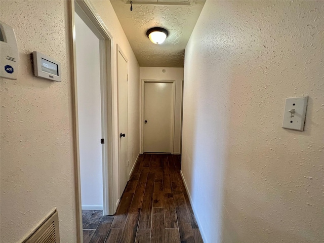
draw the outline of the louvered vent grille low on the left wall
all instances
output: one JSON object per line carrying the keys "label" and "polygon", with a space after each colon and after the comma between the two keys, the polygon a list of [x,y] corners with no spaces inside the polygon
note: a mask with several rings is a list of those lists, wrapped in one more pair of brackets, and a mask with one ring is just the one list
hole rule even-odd
{"label": "louvered vent grille low on the left wall", "polygon": [[55,211],[23,243],[60,243],[58,212]]}

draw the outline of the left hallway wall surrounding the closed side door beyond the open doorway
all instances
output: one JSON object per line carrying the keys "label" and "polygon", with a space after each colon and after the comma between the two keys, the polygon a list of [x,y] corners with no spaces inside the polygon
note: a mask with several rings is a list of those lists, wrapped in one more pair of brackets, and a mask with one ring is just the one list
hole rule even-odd
{"label": "left hallway wall surrounding the closed side door beyond the open doorway", "polygon": [[[118,130],[117,130],[117,44],[128,59],[128,145],[129,145],[129,172],[133,168],[136,158],[139,155],[139,65],[133,53],[133,50],[128,42],[128,39],[121,27],[118,18],[111,6],[110,1],[91,0],[96,11],[107,26],[113,39],[113,99],[114,99],[114,143],[118,145]],[[118,146],[114,147],[114,158],[118,161]],[[114,166],[114,174],[118,175],[118,166]],[[118,188],[114,188],[114,198],[117,201]]]}

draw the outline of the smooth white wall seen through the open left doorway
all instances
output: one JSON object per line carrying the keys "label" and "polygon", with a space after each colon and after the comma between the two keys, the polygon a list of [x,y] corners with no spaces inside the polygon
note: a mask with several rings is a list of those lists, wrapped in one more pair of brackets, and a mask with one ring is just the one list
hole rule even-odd
{"label": "smooth white wall seen through the open left doorway", "polygon": [[74,16],[82,209],[102,210],[99,39],[76,13]]}

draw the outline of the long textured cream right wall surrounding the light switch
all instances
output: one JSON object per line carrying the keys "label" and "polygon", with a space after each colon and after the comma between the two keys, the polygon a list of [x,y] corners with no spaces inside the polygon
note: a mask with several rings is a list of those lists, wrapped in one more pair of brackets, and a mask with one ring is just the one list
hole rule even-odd
{"label": "long textured cream right wall surrounding the light switch", "polygon": [[[322,242],[323,2],[207,1],[185,51],[182,173],[205,242]],[[309,96],[305,131],[281,128]]]}

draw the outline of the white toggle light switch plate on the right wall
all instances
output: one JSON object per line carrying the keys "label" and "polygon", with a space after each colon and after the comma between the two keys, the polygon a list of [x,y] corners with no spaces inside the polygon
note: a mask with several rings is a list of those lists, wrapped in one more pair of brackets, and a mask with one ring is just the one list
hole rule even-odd
{"label": "white toggle light switch plate on the right wall", "polygon": [[308,96],[300,98],[286,98],[282,128],[304,131],[307,101]]}

